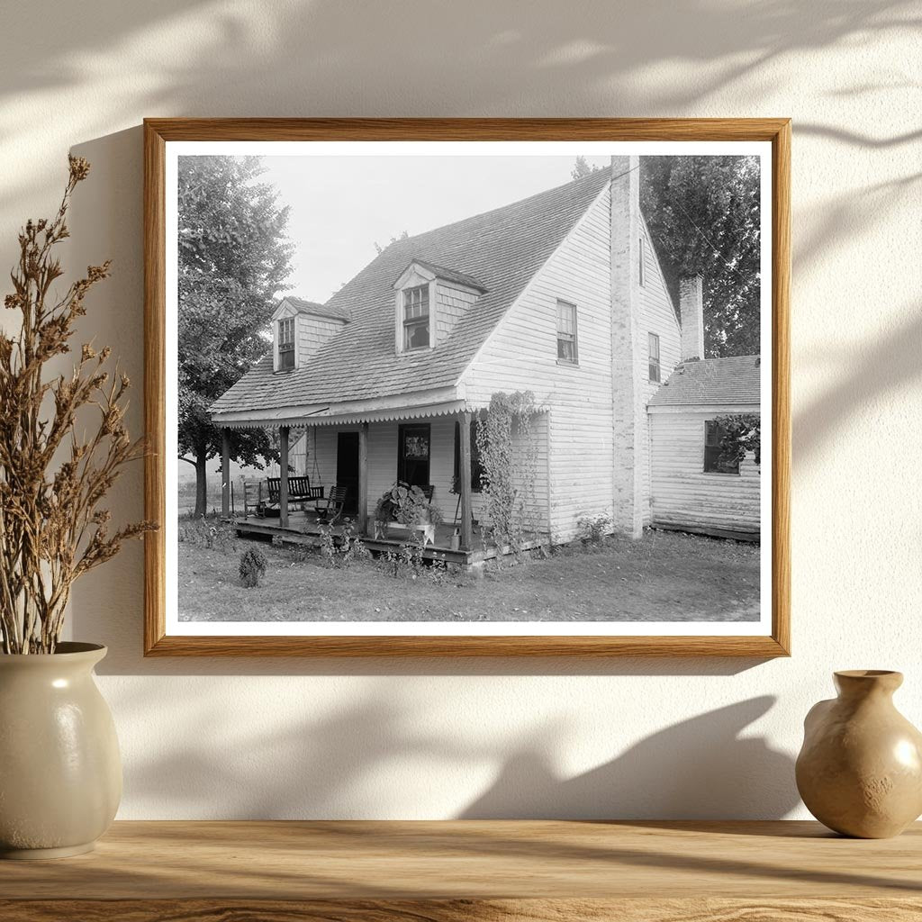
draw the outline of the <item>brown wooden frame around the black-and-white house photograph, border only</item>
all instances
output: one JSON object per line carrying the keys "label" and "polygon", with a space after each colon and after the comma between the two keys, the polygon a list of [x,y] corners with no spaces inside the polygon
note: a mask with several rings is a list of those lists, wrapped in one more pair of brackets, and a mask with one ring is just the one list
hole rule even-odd
{"label": "brown wooden frame around the black-and-white house photograph, border only", "polygon": [[[772,604],[764,635],[176,635],[167,534],[146,536],[146,656],[751,656],[790,654],[789,119],[148,119],[144,124],[147,517],[164,523],[167,145],[185,141],[761,141],[771,145]],[[764,242],[763,242],[764,245]],[[764,301],[763,301],[764,303]],[[658,351],[658,343],[657,343]],[[658,361],[658,356],[657,356]],[[462,426],[462,429],[464,427]],[[463,436],[466,438],[466,436]],[[287,435],[286,435],[287,439]],[[287,451],[287,448],[286,448]],[[550,488],[549,488],[550,489]],[[468,491],[469,492],[469,491]],[[469,495],[467,497],[469,502]],[[453,501],[454,502],[454,501]],[[460,501],[459,501],[460,502]],[[287,508],[287,507],[286,507]]]}

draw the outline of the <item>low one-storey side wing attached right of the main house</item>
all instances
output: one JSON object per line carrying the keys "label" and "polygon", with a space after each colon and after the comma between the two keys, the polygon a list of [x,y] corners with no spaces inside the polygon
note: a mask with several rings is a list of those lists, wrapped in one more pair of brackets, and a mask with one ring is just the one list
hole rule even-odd
{"label": "low one-storey side wing attached right of the main house", "polygon": [[[759,540],[754,452],[727,460],[727,417],[760,416],[759,356],[682,361],[647,405],[655,528]],[[767,485],[766,485],[767,486]]]}

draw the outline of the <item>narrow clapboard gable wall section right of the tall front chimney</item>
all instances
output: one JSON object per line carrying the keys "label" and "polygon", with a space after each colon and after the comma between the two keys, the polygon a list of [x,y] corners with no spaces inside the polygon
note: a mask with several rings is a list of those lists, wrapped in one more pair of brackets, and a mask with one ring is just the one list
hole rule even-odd
{"label": "narrow clapboard gable wall section right of the tall front chimney", "polygon": [[[649,359],[650,340],[648,334],[656,333],[659,337],[659,361],[660,374],[659,383],[649,380],[648,369],[644,368],[641,381],[644,388],[644,406],[647,401],[656,394],[656,391],[662,386],[662,382],[668,379],[676,365],[681,359],[681,328],[676,317],[675,309],[672,306],[672,299],[666,287],[666,279],[663,278],[662,270],[659,267],[659,260],[656,258],[656,250],[653,246],[650,232],[647,230],[646,223],[642,220],[643,230],[641,239],[644,245],[644,284],[640,287],[640,336],[641,336],[641,354],[645,360]],[[648,362],[645,362],[648,365]],[[644,496],[644,525],[649,525],[652,520],[652,508],[649,498],[651,495],[651,476],[650,476],[650,440],[644,438],[640,440],[642,457],[641,457],[641,484]]]}

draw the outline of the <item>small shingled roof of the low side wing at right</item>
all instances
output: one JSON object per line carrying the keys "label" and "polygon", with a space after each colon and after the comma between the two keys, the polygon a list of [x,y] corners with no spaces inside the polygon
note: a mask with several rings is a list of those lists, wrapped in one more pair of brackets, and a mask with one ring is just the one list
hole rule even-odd
{"label": "small shingled roof of the low side wing at right", "polygon": [[683,361],[650,399],[650,407],[758,404],[759,356]]}

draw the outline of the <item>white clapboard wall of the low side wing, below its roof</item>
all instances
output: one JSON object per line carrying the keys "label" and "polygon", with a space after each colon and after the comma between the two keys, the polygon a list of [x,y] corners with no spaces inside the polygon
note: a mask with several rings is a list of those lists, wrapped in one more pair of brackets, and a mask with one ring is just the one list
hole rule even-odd
{"label": "white clapboard wall of the low side wing, below its roof", "polygon": [[[757,407],[741,413],[759,413]],[[651,413],[651,505],[654,525],[758,531],[762,475],[751,457],[734,474],[705,474],[704,423],[720,414],[691,408]]]}

